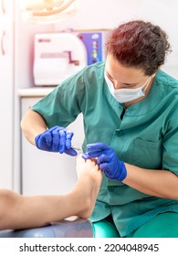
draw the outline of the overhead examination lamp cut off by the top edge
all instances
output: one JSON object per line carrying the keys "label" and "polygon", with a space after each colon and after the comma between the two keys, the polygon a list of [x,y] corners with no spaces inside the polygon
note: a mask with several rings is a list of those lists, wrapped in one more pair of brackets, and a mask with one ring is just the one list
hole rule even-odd
{"label": "overhead examination lamp cut off by the top edge", "polygon": [[25,21],[54,23],[79,11],[79,0],[19,0]]}

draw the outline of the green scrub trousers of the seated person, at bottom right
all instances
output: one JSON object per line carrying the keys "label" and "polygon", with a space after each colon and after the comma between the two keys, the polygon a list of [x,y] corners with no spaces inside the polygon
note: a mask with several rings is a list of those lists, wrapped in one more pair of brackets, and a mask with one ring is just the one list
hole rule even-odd
{"label": "green scrub trousers of the seated person, at bottom right", "polygon": [[[120,238],[110,218],[93,222],[92,225],[95,238]],[[159,214],[126,238],[178,238],[178,214],[174,212]]]}

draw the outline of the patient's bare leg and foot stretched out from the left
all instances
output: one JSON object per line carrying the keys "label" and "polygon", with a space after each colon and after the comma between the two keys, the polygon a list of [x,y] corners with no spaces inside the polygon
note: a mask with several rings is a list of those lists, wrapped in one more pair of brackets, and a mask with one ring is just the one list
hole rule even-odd
{"label": "patient's bare leg and foot stretched out from the left", "polygon": [[0,229],[37,228],[74,215],[89,218],[99,193],[101,172],[94,160],[81,156],[77,172],[76,187],[67,195],[26,197],[0,190]]}

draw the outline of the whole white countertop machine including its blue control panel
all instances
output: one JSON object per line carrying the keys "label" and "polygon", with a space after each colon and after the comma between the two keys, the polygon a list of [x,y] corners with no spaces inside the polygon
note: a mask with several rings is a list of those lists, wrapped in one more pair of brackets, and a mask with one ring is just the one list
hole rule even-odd
{"label": "whole white countertop machine including its blue control panel", "polygon": [[55,86],[87,65],[105,59],[109,29],[37,34],[34,83]]}

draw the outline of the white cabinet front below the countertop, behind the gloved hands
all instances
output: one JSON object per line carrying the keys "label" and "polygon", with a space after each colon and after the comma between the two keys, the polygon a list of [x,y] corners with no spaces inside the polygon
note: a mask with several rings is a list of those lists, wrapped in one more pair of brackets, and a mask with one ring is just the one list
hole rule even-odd
{"label": "white cabinet front below the countertop, behind the gloved hands", "polygon": [[[37,97],[21,97],[21,115],[39,100]],[[82,115],[68,128],[74,132],[73,144],[80,146],[84,138]],[[64,194],[70,191],[77,181],[76,156],[38,150],[22,135],[21,157],[22,194]]]}

